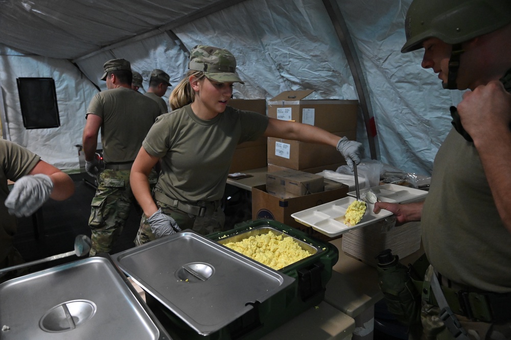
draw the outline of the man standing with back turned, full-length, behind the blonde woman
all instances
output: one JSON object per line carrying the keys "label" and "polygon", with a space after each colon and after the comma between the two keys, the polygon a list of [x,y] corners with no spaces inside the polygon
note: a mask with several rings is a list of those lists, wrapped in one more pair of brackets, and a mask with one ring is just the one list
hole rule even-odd
{"label": "man standing with back turned, full-length, behind the blonde woman", "polygon": [[[83,130],[85,170],[98,180],[89,218],[90,256],[111,251],[124,228],[133,202],[131,165],[160,114],[153,100],[131,89],[129,61],[112,59],[103,67],[101,80],[106,81],[107,90],[97,93],[90,102]],[[100,129],[104,169],[95,157]]]}

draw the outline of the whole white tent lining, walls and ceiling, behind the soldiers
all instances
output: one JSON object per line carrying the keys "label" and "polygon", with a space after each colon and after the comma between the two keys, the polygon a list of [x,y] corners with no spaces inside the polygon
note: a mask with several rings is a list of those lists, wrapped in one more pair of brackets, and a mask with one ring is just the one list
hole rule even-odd
{"label": "whole white tent lining, walls and ceiling, behind the soldiers", "polygon": [[[421,68],[420,51],[400,53],[410,3],[337,0],[367,83],[381,160],[428,175],[450,130],[449,106],[461,93],[443,90]],[[172,34],[165,32],[169,28]],[[245,85],[235,85],[235,98],[269,100],[285,90],[314,89],[308,99],[358,99],[329,13],[318,0],[0,0],[2,123],[11,140],[60,168],[76,168],[74,145],[81,143],[86,107],[97,87],[106,89],[103,63],[129,60],[145,89],[150,71],[160,68],[175,86],[187,71],[181,47],[198,43],[236,56]],[[60,128],[24,129],[18,77],[56,80]],[[361,116],[357,139],[368,150]],[[58,148],[51,147],[55,143]]]}

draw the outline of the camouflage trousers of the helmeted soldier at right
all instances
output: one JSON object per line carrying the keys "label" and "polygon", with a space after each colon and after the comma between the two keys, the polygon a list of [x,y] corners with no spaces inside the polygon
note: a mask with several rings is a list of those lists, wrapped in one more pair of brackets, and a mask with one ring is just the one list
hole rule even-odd
{"label": "camouflage trousers of the helmeted soldier at right", "polygon": [[[431,281],[432,267],[428,269],[425,279]],[[409,340],[454,340],[454,336],[438,317],[440,308],[422,302],[421,323],[410,327]],[[460,325],[467,331],[471,340],[506,340],[511,339],[511,320],[503,323],[486,323],[470,320],[455,314]]]}

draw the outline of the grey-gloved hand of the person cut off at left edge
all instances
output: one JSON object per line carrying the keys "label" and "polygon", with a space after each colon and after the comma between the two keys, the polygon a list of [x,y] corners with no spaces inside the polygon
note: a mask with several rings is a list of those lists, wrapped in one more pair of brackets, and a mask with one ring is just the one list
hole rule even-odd
{"label": "grey-gloved hand of the person cut off at left edge", "polygon": [[44,174],[27,175],[14,183],[5,206],[11,215],[30,216],[48,201],[53,191],[50,176]]}

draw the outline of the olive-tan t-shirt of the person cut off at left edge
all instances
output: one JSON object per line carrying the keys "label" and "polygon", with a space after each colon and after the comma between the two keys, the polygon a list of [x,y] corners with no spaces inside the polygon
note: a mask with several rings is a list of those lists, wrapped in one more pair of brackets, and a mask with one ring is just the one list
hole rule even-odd
{"label": "olive-tan t-shirt of the person cut off at left edge", "polygon": [[9,188],[7,180],[16,181],[28,175],[40,157],[19,145],[0,139],[0,263],[13,248],[12,237],[16,232],[16,217],[4,205]]}

